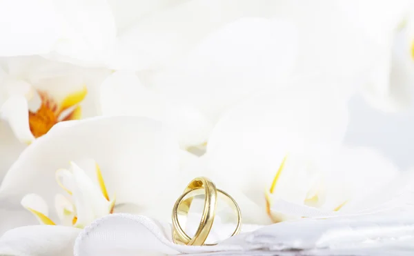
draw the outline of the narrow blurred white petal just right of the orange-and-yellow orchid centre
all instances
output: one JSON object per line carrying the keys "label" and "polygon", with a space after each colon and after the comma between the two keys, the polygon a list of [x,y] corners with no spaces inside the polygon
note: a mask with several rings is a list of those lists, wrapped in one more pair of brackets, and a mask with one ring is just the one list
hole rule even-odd
{"label": "narrow blurred white petal just right of the orange-and-yellow orchid centre", "polygon": [[103,115],[133,115],[164,121],[182,148],[203,144],[212,124],[192,106],[172,102],[145,88],[132,72],[115,72],[101,86]]}

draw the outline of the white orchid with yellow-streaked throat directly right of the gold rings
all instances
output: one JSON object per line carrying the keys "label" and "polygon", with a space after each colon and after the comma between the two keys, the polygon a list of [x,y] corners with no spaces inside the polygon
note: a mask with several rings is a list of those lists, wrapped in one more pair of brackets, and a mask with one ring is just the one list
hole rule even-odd
{"label": "white orchid with yellow-streaked throat directly right of the gold rings", "polygon": [[399,173],[370,150],[339,151],[346,99],[306,84],[265,91],[230,110],[214,128],[203,162],[188,167],[233,193],[246,223],[372,213],[390,203],[355,206]]}

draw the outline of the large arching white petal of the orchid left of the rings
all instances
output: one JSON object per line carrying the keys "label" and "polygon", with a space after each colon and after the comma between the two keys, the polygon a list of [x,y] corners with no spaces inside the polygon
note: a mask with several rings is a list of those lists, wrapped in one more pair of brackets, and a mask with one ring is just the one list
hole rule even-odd
{"label": "large arching white petal of the orchid left of the rings", "polygon": [[[21,153],[3,179],[0,193],[37,193],[52,205],[55,194],[63,191],[55,181],[55,171],[73,161],[95,180],[95,163],[90,168],[82,165],[86,159],[94,159],[101,167],[109,195],[117,194],[117,203],[130,202],[146,208],[150,215],[170,218],[170,204],[177,195],[169,195],[159,186],[174,188],[179,149],[167,128],[144,117],[100,117],[67,123],[55,125]],[[150,207],[158,200],[166,200],[159,207],[167,210]]]}

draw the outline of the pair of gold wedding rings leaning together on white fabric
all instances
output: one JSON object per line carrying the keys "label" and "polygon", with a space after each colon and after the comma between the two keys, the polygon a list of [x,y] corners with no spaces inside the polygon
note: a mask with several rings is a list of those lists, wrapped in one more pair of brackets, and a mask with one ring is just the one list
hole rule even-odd
{"label": "pair of gold wedding rings leaning together on white fabric", "polygon": [[[172,239],[176,244],[185,244],[189,246],[214,245],[205,244],[205,242],[208,234],[210,234],[215,219],[217,193],[226,199],[237,215],[237,226],[231,236],[237,235],[240,232],[240,229],[242,228],[242,214],[240,213],[239,206],[237,206],[235,199],[230,197],[230,195],[223,190],[217,189],[210,179],[207,179],[206,177],[198,177],[188,184],[184,193],[177,199],[174,208],[172,208]],[[179,215],[188,215],[193,198],[197,195],[205,195],[204,208],[199,226],[195,231],[194,237],[191,238],[184,232],[183,228],[181,228],[181,225],[179,224]],[[184,199],[186,197],[188,197],[188,199]]]}

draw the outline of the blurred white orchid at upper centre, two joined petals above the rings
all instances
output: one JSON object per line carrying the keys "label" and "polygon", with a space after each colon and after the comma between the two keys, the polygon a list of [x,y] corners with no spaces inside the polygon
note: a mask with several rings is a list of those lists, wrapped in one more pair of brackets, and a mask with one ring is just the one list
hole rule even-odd
{"label": "blurred white orchid at upper centre, two joined petals above the rings", "polygon": [[206,144],[230,106],[279,87],[295,61],[295,30],[284,21],[239,19],[213,32],[175,68],[115,72],[101,86],[103,115],[144,115],[176,130],[182,148]]}

